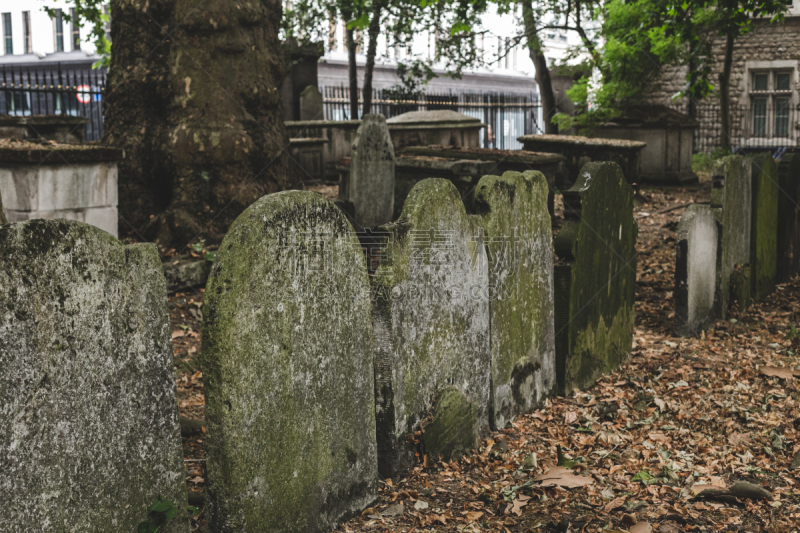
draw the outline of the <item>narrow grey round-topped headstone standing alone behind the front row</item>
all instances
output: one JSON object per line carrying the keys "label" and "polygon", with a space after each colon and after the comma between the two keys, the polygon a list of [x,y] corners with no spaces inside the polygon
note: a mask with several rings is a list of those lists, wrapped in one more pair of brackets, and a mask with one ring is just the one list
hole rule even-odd
{"label": "narrow grey round-topped headstone standing alone behind the front row", "polygon": [[394,147],[386,118],[365,115],[353,141],[344,196],[353,203],[356,222],[362,228],[375,228],[392,220],[394,167]]}

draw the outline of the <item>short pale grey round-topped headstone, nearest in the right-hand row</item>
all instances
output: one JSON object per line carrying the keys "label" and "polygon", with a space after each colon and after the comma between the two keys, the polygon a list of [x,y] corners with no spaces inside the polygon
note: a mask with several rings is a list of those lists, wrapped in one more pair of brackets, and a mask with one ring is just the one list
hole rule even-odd
{"label": "short pale grey round-topped headstone, nearest in the right-hand row", "polygon": [[697,333],[714,317],[717,221],[711,208],[692,205],[678,224],[675,260],[675,330]]}

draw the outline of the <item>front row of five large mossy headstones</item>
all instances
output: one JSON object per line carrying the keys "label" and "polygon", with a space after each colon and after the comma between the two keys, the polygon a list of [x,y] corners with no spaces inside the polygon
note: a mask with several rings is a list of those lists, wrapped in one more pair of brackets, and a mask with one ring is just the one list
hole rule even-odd
{"label": "front row of five large mossy headstones", "polygon": [[[321,196],[245,210],[204,303],[212,531],[329,530],[375,500],[379,472],[414,464],[415,432],[452,457],[622,361],[633,193],[615,164],[584,167],[556,265],[546,199],[538,172],[485,176],[468,214],[452,183],[423,180],[377,230],[372,282]],[[64,220],[1,226],[0,313],[0,520],[131,531],[159,498],[185,502],[155,246]],[[159,531],[187,530],[178,508]]]}

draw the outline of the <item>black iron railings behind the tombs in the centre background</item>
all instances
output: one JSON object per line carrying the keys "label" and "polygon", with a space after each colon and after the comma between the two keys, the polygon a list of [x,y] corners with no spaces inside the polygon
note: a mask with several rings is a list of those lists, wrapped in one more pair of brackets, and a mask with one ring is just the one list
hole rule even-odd
{"label": "black iron railings behind the tombs in the centre background", "polygon": [[[350,90],[347,87],[323,87],[323,106],[326,120],[350,120]],[[359,117],[363,98],[359,91]],[[541,105],[534,94],[491,93],[419,93],[400,94],[397,91],[372,91],[373,113],[386,118],[409,111],[450,109],[480,119],[486,124],[481,132],[484,148],[516,150],[522,148],[517,137],[541,133]]]}

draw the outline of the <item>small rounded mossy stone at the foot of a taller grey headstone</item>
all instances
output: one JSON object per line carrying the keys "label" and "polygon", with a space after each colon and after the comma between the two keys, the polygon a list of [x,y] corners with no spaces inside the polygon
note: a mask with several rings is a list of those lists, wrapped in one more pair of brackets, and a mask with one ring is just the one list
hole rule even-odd
{"label": "small rounded mossy stone at the foot of a taller grey headstone", "polygon": [[478,408],[458,389],[447,388],[436,398],[433,419],[422,434],[432,459],[458,459],[478,447]]}

